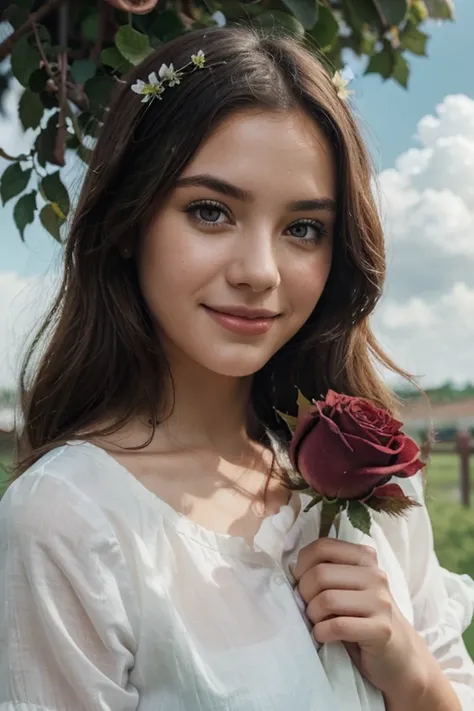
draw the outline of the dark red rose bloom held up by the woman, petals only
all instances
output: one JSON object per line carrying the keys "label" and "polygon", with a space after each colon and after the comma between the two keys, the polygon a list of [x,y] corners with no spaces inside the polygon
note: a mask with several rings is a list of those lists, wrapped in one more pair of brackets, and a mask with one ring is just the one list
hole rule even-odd
{"label": "dark red rose bloom held up by the woman, petals only", "polygon": [[401,427],[369,400],[330,390],[298,416],[291,461],[318,494],[363,499],[392,476],[410,477],[424,466]]}

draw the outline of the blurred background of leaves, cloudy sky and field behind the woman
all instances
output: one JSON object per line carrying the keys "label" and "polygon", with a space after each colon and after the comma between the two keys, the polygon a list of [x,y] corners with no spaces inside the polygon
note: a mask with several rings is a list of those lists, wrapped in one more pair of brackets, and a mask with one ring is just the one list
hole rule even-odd
{"label": "blurred background of leaves, cloudy sky and field behind the woman", "polygon": [[[11,460],[18,365],[57,286],[110,92],[160,42],[228,22],[305,35],[332,70],[354,74],[387,237],[374,328],[429,396],[390,381],[429,457],[441,564],[474,577],[472,0],[0,2],[0,464]],[[474,657],[474,626],[466,643]]]}

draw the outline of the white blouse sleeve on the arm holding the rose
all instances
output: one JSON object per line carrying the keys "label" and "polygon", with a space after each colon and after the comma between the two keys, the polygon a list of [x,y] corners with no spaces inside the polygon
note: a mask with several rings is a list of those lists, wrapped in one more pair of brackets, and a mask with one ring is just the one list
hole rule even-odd
{"label": "white blouse sleeve on the arm holding the rose", "polygon": [[[423,501],[421,476],[411,480],[416,499]],[[474,709],[474,663],[462,635],[474,610],[474,581],[442,568],[434,552],[433,530],[425,506],[412,509],[408,519],[408,579],[414,610],[414,625],[462,704]]]}

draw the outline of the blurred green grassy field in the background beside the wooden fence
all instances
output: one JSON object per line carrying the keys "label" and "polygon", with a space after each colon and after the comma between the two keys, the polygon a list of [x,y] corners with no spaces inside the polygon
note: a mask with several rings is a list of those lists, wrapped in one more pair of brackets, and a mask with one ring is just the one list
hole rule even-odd
{"label": "blurred green grassy field in the background beside the wooden fence", "polygon": [[[0,465],[8,463],[8,456],[0,454]],[[2,475],[0,468],[0,491]],[[427,470],[425,496],[441,565],[474,578],[474,472],[472,478],[472,508],[464,509],[459,504],[458,458],[454,454],[435,454]],[[474,659],[474,624],[464,638]]]}

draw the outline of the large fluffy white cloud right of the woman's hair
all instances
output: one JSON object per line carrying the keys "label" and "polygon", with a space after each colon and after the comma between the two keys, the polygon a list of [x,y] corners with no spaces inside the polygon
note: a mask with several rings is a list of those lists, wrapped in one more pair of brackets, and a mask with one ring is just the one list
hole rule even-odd
{"label": "large fluffy white cloud right of the woman's hair", "polygon": [[388,278],[374,325],[425,384],[474,381],[474,101],[447,96],[379,176]]}

